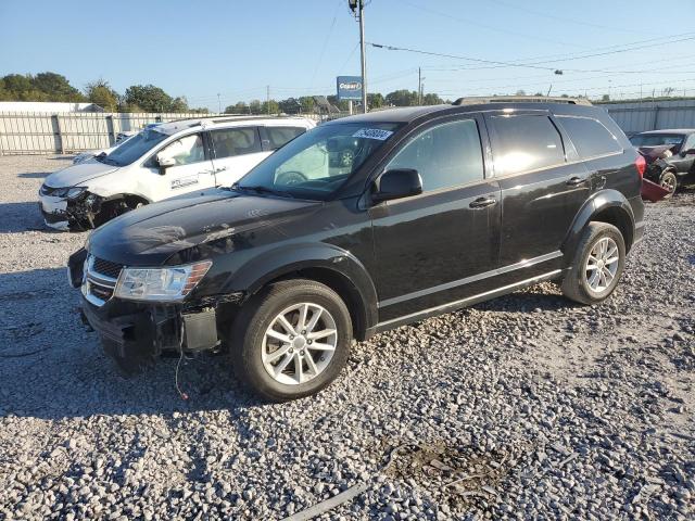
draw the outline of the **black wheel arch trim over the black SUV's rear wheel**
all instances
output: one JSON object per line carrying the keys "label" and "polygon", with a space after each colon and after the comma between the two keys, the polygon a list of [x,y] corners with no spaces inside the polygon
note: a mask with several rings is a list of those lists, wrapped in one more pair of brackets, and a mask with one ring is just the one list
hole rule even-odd
{"label": "black wheel arch trim over the black SUV's rear wheel", "polygon": [[[596,218],[601,215],[611,215],[620,223],[612,223],[605,218]],[[599,220],[616,225],[623,234],[626,250],[630,251],[634,238],[634,213],[626,196],[618,190],[607,189],[594,193],[584,202],[574,216],[574,220],[563,241],[561,251],[565,254],[565,264],[571,263],[574,256],[574,249],[584,232],[584,228],[592,220]],[[620,226],[621,225],[621,226]]]}

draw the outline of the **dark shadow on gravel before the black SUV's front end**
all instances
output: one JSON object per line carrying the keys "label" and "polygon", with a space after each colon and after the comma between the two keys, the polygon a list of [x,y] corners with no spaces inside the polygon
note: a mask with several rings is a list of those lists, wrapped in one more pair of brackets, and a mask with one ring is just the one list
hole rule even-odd
{"label": "dark shadow on gravel before the black SUV's front end", "polygon": [[[0,274],[0,417],[170,415],[265,405],[233,378],[225,356],[163,358],[125,379],[81,323],[65,270]],[[184,399],[178,385],[188,395]]]}

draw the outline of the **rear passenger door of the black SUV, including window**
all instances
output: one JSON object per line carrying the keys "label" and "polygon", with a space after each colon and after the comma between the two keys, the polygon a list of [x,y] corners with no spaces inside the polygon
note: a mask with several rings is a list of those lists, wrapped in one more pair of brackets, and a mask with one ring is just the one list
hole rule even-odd
{"label": "rear passenger door of the black SUV, including window", "polygon": [[545,111],[485,115],[502,189],[501,282],[555,269],[560,245],[586,200],[589,171]]}

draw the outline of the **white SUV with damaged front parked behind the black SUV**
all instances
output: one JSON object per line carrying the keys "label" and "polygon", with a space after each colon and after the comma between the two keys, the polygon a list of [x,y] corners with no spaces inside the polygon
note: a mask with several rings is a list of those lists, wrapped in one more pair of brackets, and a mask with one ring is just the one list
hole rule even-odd
{"label": "white SUV with damaged front parked behind the black SUV", "polygon": [[51,228],[88,229],[143,204],[231,186],[314,127],[301,117],[217,116],[146,128],[106,155],[48,176],[41,213]]}

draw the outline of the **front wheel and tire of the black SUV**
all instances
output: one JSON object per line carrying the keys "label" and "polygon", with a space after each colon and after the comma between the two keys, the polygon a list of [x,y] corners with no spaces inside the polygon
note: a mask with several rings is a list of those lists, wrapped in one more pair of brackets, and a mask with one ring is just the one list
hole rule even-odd
{"label": "front wheel and tire of the black SUV", "polygon": [[237,377],[273,402],[319,392],[350,357],[352,321],[330,288],[304,279],[283,280],[254,295],[231,332]]}

